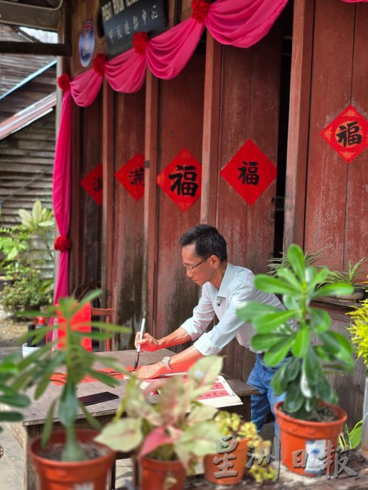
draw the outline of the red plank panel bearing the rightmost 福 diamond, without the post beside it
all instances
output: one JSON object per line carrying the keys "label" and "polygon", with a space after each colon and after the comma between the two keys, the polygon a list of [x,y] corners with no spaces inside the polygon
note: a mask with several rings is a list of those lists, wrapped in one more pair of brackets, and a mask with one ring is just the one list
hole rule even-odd
{"label": "red plank panel bearing the rightmost \u798f diamond, without the post beside it", "polygon": [[315,1],[304,247],[339,270],[368,256],[367,151],[347,164],[320,131],[349,104],[368,116],[367,21],[366,4]]}

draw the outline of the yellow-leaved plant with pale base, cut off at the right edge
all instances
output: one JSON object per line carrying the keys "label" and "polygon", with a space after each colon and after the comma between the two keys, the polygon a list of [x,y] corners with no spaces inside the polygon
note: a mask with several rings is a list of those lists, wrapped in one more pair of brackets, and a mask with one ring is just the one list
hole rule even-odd
{"label": "yellow-leaved plant with pale base, cut off at the right edge", "polygon": [[363,420],[361,427],[362,446],[361,451],[368,459],[368,300],[362,301],[361,305],[348,312],[354,320],[349,330],[352,335],[352,342],[357,349],[357,357],[361,357],[366,369],[364,402],[363,402]]}

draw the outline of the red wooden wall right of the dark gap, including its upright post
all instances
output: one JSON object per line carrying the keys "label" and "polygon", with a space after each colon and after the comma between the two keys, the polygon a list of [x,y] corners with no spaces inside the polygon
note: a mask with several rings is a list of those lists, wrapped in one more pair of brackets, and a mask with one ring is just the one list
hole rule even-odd
{"label": "red wooden wall right of the dark gap, including its upright post", "polygon": [[[326,247],[321,263],[340,271],[368,257],[368,153],[347,164],[320,131],[350,104],[368,118],[367,49],[367,4],[294,1],[284,249]],[[347,334],[344,312],[327,309]],[[362,415],[364,377],[358,363],[352,376],[333,378],[350,426]]]}

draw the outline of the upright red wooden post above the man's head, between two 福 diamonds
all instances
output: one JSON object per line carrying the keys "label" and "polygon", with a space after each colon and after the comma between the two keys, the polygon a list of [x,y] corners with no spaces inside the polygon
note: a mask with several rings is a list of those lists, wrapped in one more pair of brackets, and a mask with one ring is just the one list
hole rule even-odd
{"label": "upright red wooden post above the man's head, between two \u798f diamonds", "polygon": [[222,46],[207,31],[205,103],[203,107],[200,222],[215,226],[219,172],[220,85]]}

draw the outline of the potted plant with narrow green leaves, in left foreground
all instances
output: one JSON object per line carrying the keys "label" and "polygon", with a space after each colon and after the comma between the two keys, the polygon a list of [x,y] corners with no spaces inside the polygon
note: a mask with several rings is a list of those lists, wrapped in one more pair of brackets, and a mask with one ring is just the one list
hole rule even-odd
{"label": "potted plant with narrow green leaves, in left foreground", "polygon": [[[93,488],[104,490],[107,474],[114,462],[115,454],[108,447],[94,442],[96,430],[100,425],[77,398],[77,386],[85,376],[92,376],[107,386],[116,386],[118,381],[94,368],[99,363],[116,371],[124,372],[113,358],[98,356],[82,347],[82,339],[107,339],[113,332],[126,332],[126,327],[119,325],[92,322],[99,327],[99,332],[82,332],[72,328],[72,318],[87,303],[92,302],[100,294],[94,291],[80,303],[75,298],[61,298],[57,307],[49,307],[45,317],[55,317],[58,313],[65,320],[63,325],[50,325],[28,332],[23,339],[31,337],[33,343],[39,342],[51,330],[63,329],[62,345],[60,339],[40,347],[36,352],[26,356],[18,364],[20,373],[10,384],[14,390],[35,386],[36,399],[45,393],[53,374],[64,371],[66,381],[60,394],[50,403],[45,420],[42,437],[33,440],[29,448],[33,467],[38,474],[39,490],[59,490],[62,488]],[[33,314],[32,314],[33,315]],[[39,315],[35,313],[34,315]],[[58,350],[53,347],[58,343]],[[76,430],[78,409],[95,430]],[[53,432],[53,420],[58,415],[64,430]]]}

